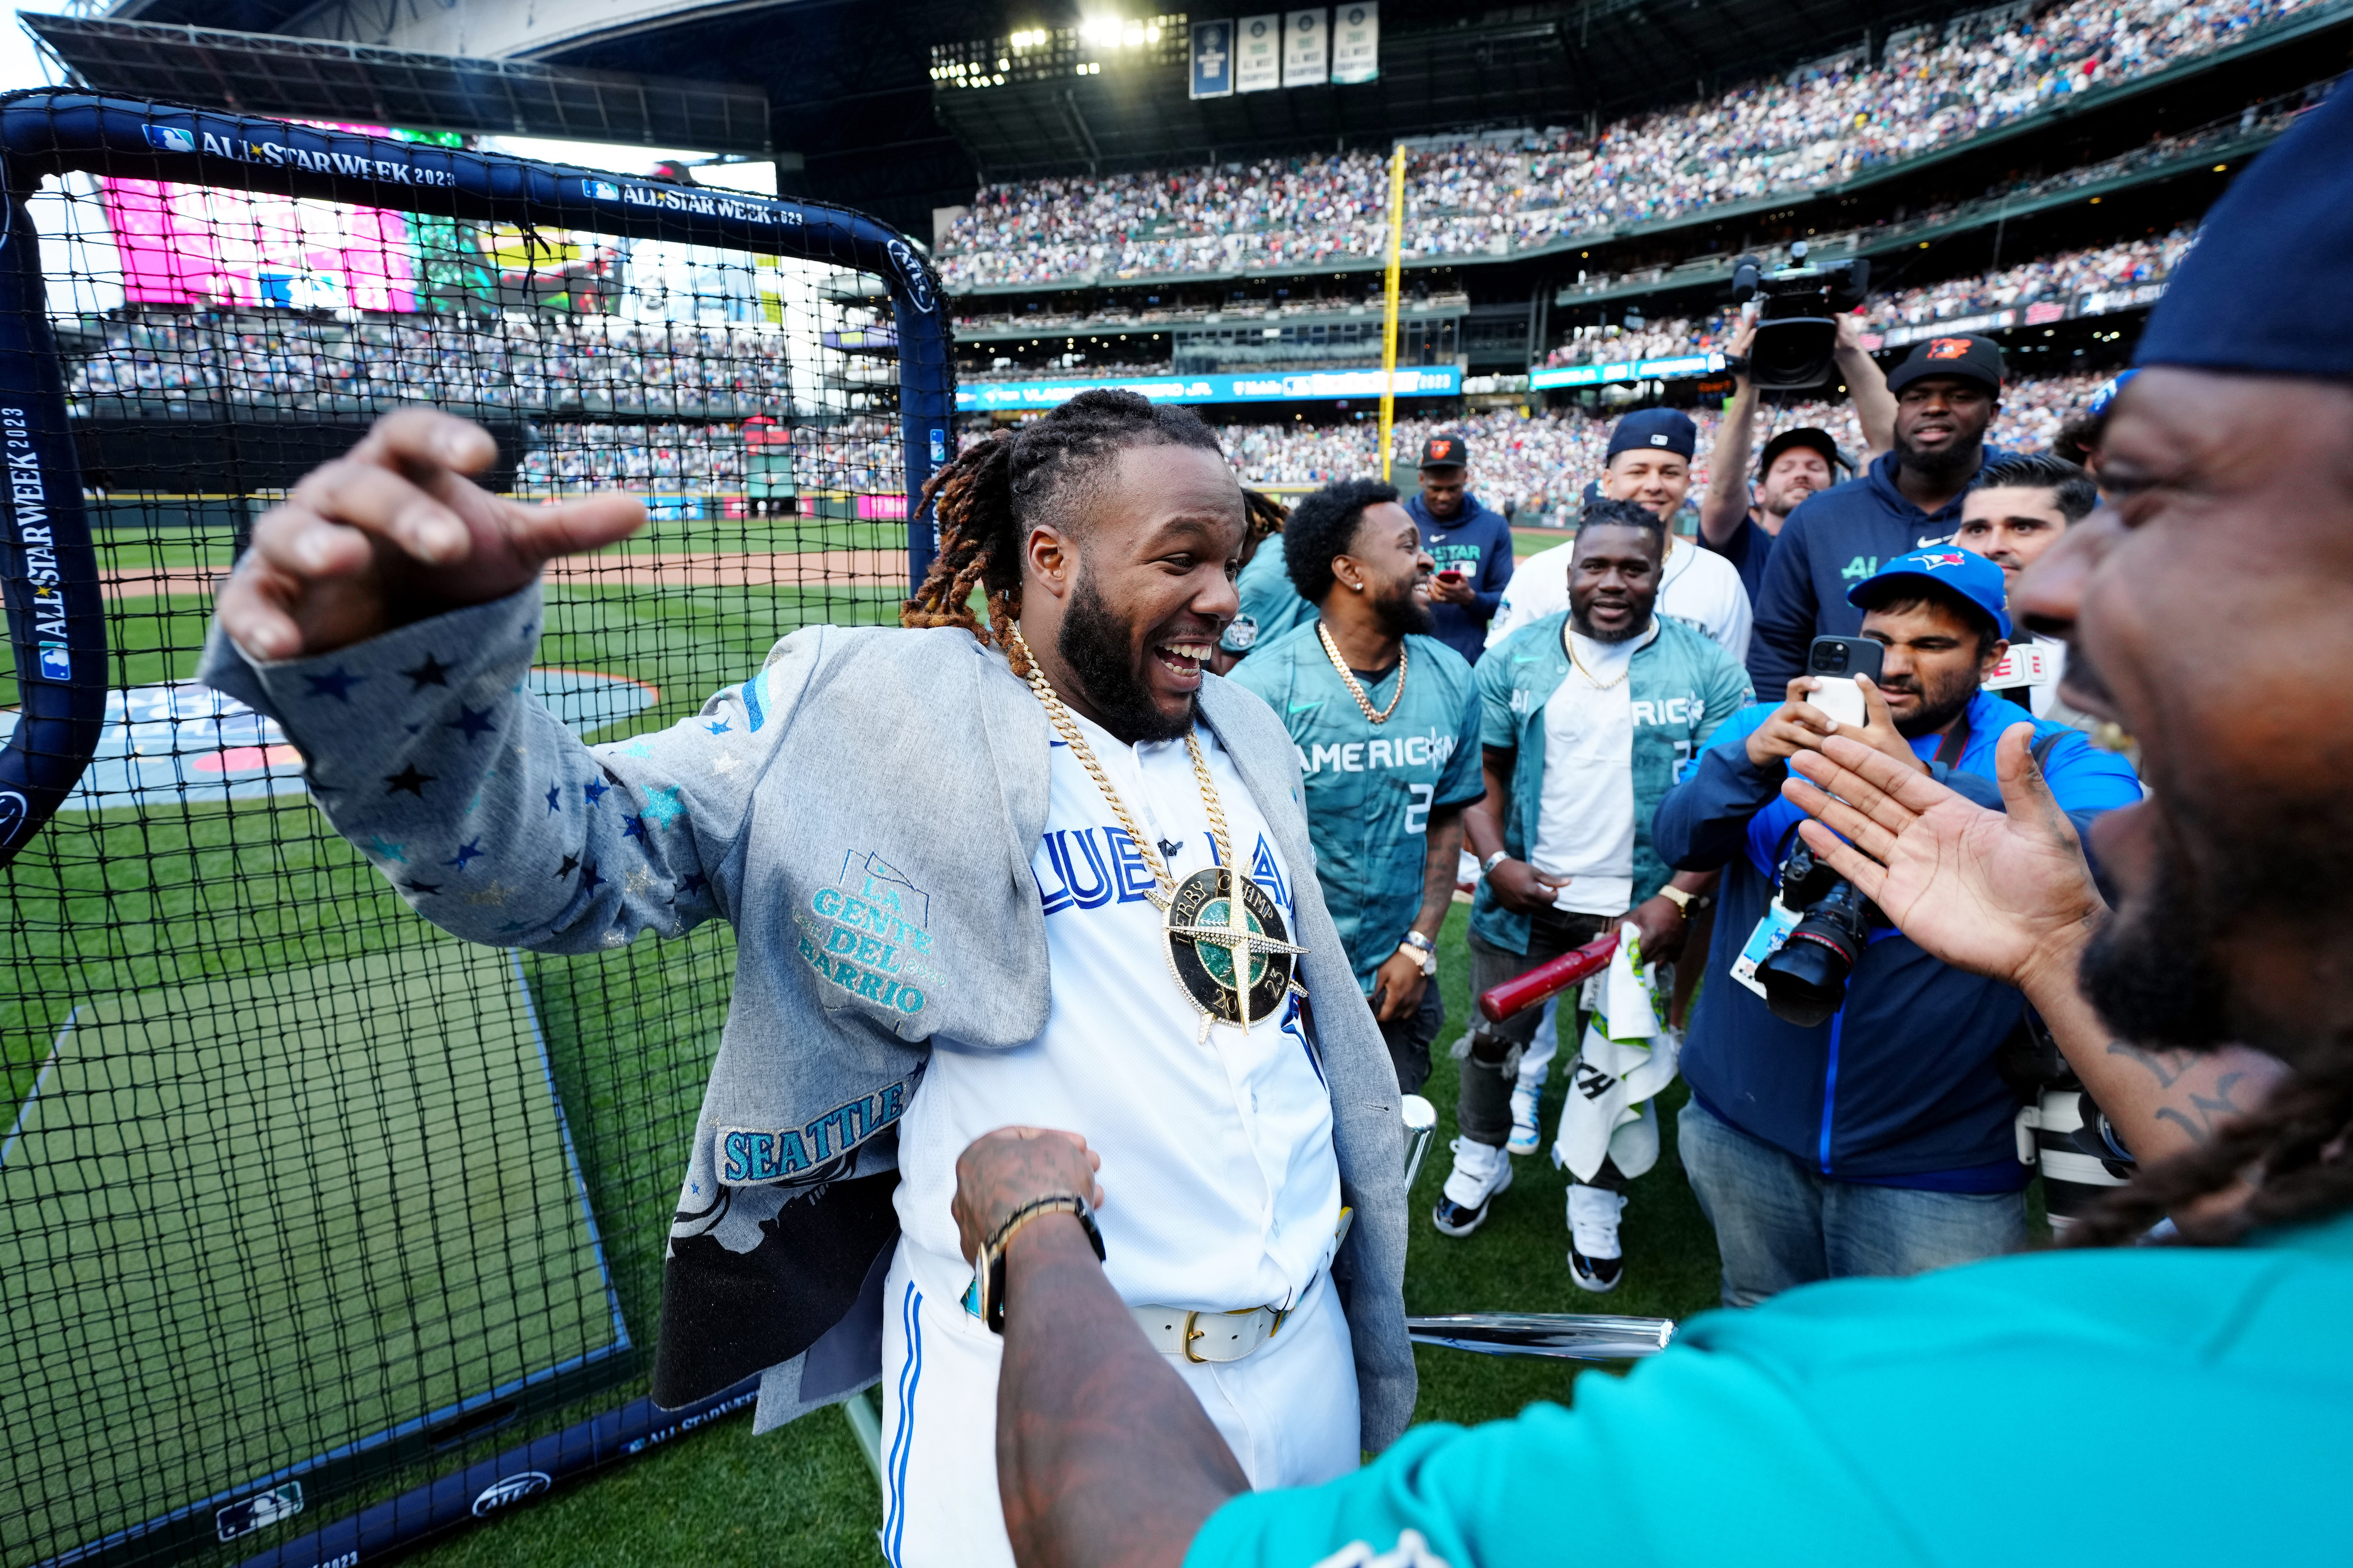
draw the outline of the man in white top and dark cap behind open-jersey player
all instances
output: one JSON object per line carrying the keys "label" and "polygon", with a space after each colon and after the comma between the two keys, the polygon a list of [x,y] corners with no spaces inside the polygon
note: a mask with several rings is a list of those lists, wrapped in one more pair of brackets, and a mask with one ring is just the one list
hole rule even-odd
{"label": "man in white top and dark cap behind open-jersey player", "polygon": [[[1699,425],[1678,409],[1635,409],[1609,430],[1609,454],[1593,487],[1600,501],[1633,501],[1659,517],[1666,562],[1659,567],[1659,614],[1718,644],[1734,661],[1748,658],[1748,590],[1729,562],[1675,538],[1675,515],[1692,494],[1692,451]],[[1522,625],[1558,616],[1569,607],[1569,557],[1577,543],[1539,550],[1520,562],[1494,621],[1487,623],[1487,646],[1501,644]]]}

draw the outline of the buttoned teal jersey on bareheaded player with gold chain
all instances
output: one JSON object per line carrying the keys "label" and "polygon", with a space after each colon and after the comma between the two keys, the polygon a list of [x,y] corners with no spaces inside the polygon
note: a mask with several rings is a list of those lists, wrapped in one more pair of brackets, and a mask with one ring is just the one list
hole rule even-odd
{"label": "buttoned teal jersey on bareheaded player with gold chain", "polygon": [[[1325,658],[1308,618],[1252,649],[1233,679],[1266,698],[1292,731],[1308,788],[1315,879],[1358,983],[1372,976],[1421,912],[1428,820],[1438,806],[1485,795],[1478,769],[1478,686],[1471,663],[1435,637],[1405,639],[1405,701],[1374,724]],[[1398,696],[1398,670],[1365,689],[1372,710]]]}

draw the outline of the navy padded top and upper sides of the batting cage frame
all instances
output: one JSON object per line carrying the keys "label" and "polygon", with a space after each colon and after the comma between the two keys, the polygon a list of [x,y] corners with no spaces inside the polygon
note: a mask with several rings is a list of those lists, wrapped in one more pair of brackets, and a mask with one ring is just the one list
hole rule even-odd
{"label": "navy padded top and upper sides of the batting cage frame", "polygon": [[[711,244],[875,273],[889,284],[899,336],[908,590],[932,569],[934,524],[918,498],[932,470],[953,456],[955,355],[939,275],[878,219],[824,202],[784,202],[68,89],[0,99],[0,162],[9,202],[7,244],[0,247],[0,397],[26,414],[24,447],[9,425],[7,456],[12,475],[38,465],[47,522],[31,527],[49,529],[40,548],[54,552],[54,562],[31,557],[21,543],[24,527],[12,520],[7,621],[24,719],[0,752],[0,865],[73,790],[99,743],[106,705],[99,569],[66,428],[64,374],[42,303],[40,242],[24,209],[24,195],[45,174],[268,190],[391,212],[416,209],[424,197],[438,214],[522,226],[562,212],[584,228],[628,240]],[[31,491],[12,494],[21,515]],[[47,571],[54,571],[54,583]],[[45,588],[54,595],[35,597]],[[56,628],[59,618],[64,635],[52,637],[45,628]]]}

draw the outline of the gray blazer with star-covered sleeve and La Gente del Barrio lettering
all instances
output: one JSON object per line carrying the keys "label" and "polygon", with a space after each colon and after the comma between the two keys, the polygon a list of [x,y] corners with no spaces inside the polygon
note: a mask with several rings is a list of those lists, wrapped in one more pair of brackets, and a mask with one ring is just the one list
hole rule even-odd
{"label": "gray blazer with star-covered sleeve and La Gente del Barrio lettering", "polygon": [[[214,628],[200,679],[278,719],[334,827],[454,936],[595,952],[734,924],[654,1396],[680,1406],[765,1371],[767,1429],[880,1375],[896,1124],[932,1034],[1016,1046],[1045,1027],[1031,851],[1052,726],[969,632],[819,625],[696,717],[584,745],[525,691],[536,646],[534,585],[320,658],[247,661]],[[1355,1206],[1332,1274],[1365,1446],[1384,1448],[1414,1408],[1398,1079],[1311,870],[1282,722],[1217,677],[1200,715],[1294,867]]]}

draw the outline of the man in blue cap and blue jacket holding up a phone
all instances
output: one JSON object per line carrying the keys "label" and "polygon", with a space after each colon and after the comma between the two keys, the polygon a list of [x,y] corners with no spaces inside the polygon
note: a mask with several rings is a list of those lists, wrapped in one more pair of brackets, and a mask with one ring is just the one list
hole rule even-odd
{"label": "man in blue cap and blue jacket holding up a phone", "polygon": [[[1701,987],[1682,1046],[1692,1100],[1682,1164],[1715,1225],[1725,1305],[1845,1274],[1913,1274],[1991,1258],[2026,1239],[2019,1100],[1995,1053],[2024,1018],[2019,992],[1951,969],[1878,919],[1845,1006],[1814,1027],[1767,1011],[1734,961],[1774,900],[1802,813],[1781,799],[1788,757],[1842,733],[2002,809],[1993,745],[2017,705],[1981,689],[2009,651],[2002,571],[1967,550],[1911,550],[1845,595],[1885,646],[1864,684],[1864,729],[1807,701],[1732,715],[1659,802],[1652,842],[1685,872],[1725,870]],[[2035,757],[2078,832],[2141,799],[2132,766],[2078,731],[2035,724]]]}

